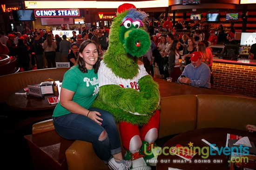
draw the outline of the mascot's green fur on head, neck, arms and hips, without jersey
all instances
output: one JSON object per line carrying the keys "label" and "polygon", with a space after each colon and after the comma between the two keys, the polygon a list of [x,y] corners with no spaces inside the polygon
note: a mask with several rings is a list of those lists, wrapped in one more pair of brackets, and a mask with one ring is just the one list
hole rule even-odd
{"label": "mascot's green fur on head, neck, arms and hips, without jersey", "polygon": [[[116,13],[103,61],[115,76],[132,79],[139,72],[138,58],[148,51],[151,41],[145,27],[138,27],[136,22],[123,24],[126,18],[141,20],[143,25],[148,22],[147,14],[134,8]],[[160,107],[158,84],[149,75],[142,77],[138,84],[140,91],[119,85],[101,86],[93,107],[112,113],[117,122],[126,121],[139,126],[148,123],[155,110]]]}

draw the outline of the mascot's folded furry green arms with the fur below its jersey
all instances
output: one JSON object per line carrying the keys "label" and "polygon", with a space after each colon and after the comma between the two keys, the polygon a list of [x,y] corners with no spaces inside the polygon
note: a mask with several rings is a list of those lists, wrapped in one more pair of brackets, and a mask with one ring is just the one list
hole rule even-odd
{"label": "mascot's folded furry green arms with the fur below its jersey", "polygon": [[[139,86],[139,92],[133,88],[121,88],[119,85],[102,86],[97,100],[94,101],[94,107],[108,110],[117,122],[125,120],[135,124],[147,123],[159,108],[160,94],[158,85],[149,75],[139,80]],[[144,116],[136,117],[131,113]]]}

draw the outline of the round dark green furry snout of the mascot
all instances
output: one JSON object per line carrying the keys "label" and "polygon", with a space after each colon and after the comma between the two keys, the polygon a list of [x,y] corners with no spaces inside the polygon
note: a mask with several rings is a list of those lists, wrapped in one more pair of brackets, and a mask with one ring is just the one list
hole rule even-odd
{"label": "round dark green furry snout of the mascot", "polygon": [[131,29],[124,36],[125,50],[131,56],[141,57],[150,47],[148,33],[142,29]]}

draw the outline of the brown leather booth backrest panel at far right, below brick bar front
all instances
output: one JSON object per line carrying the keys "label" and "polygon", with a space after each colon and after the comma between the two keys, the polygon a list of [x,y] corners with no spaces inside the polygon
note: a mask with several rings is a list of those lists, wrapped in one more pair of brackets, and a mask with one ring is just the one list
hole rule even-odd
{"label": "brown leather booth backrest panel at far right, below brick bar front", "polygon": [[197,95],[197,129],[227,127],[245,130],[247,124],[256,124],[256,99],[228,95]]}

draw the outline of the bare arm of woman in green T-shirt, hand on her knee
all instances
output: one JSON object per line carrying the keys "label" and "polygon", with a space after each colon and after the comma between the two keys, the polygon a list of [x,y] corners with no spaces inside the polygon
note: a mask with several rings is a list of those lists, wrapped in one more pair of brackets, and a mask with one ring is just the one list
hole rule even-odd
{"label": "bare arm of woman in green T-shirt, hand on her knee", "polygon": [[[91,120],[101,125],[102,119],[98,117],[101,115],[99,112],[89,111],[88,109],[81,107],[78,103],[72,101],[74,96],[74,91],[68,90],[66,88],[61,88],[60,104],[62,107],[66,108],[71,113],[77,113],[84,116],[88,116]],[[89,113],[90,112],[90,113]]]}

